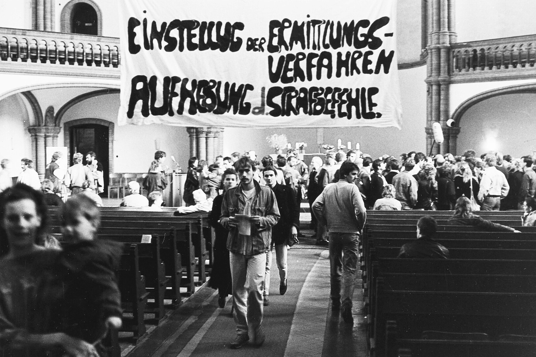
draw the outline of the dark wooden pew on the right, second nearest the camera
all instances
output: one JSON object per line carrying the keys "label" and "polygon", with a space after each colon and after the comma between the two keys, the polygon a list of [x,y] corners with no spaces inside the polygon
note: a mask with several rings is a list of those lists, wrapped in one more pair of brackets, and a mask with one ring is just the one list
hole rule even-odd
{"label": "dark wooden pew on the right, second nearest the camera", "polygon": [[375,356],[384,356],[387,321],[396,321],[401,338],[419,338],[425,330],[483,332],[491,339],[507,333],[530,335],[536,328],[534,293],[394,291],[378,282]]}

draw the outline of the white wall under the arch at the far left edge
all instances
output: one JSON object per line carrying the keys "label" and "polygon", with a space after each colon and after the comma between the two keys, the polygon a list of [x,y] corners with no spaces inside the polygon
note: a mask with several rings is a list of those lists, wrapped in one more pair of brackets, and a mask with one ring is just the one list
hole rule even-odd
{"label": "white wall under the arch at the far left edge", "polygon": [[28,126],[28,112],[21,95],[12,95],[0,101],[0,159],[10,159],[13,176],[20,171],[21,158],[32,158]]}

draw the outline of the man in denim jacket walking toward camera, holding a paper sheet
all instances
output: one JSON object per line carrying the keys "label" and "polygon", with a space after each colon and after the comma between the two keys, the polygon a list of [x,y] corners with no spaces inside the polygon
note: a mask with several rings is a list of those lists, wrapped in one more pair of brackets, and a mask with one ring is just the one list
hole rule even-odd
{"label": "man in denim jacket walking toward camera, holding a paper sheet", "polygon": [[[248,327],[254,334],[253,344],[260,347],[265,339],[260,324],[263,320],[266,252],[270,248],[271,227],[279,219],[279,209],[270,187],[260,186],[253,179],[256,168],[249,157],[241,157],[236,167],[240,185],[225,193],[220,216],[220,224],[229,229],[227,249],[230,252],[237,332],[229,347],[240,348],[248,343]],[[239,232],[237,214],[249,216],[245,222],[249,225],[249,235]]]}

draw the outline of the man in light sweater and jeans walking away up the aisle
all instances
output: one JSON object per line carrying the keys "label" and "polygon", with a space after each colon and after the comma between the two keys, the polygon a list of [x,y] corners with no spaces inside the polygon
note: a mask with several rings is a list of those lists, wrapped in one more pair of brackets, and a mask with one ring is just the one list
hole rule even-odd
{"label": "man in light sweater and jeans walking away up the aisle", "polygon": [[339,181],[324,188],[312,204],[312,210],[318,222],[329,231],[331,309],[338,311],[342,305],[344,322],[353,324],[352,297],[358,268],[359,234],[367,214],[359,189],[354,185],[358,165],[346,161],[339,172]]}

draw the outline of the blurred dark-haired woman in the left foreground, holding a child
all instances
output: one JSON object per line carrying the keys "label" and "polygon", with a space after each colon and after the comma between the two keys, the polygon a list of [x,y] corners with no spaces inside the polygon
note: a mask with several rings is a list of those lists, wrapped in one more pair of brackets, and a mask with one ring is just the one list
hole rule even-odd
{"label": "blurred dark-haired woman in the left foreground, holding a child", "polygon": [[17,184],[0,194],[0,354],[99,357],[90,343],[57,332],[50,316],[62,292],[47,284],[60,252],[36,242],[46,234],[47,206],[41,192]]}

